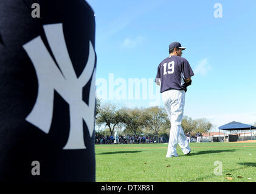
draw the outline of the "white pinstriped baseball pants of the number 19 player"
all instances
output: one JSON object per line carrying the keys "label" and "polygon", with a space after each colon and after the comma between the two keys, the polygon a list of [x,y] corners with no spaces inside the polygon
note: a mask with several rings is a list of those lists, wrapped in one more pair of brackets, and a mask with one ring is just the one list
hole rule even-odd
{"label": "white pinstriped baseball pants of the number 19 player", "polygon": [[177,144],[184,154],[190,152],[189,142],[187,142],[184,131],[181,127],[185,105],[184,90],[168,90],[162,93],[165,110],[171,122],[170,137],[167,149],[167,158],[178,156],[176,152]]}

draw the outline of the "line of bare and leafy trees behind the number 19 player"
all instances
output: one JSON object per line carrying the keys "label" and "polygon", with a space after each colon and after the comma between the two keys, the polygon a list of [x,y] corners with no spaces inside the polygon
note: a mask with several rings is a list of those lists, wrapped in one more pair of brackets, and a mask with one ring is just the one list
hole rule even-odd
{"label": "line of bare and leafy trees behind the number 19 player", "polygon": [[[102,104],[100,99],[96,101],[95,124],[105,127],[110,135],[114,135],[117,129],[123,129],[123,133],[135,136],[168,135],[171,127],[164,107],[128,108],[112,102]],[[190,132],[192,135],[209,132],[213,127],[206,118],[193,120],[189,116],[183,117],[181,126],[184,133]]]}

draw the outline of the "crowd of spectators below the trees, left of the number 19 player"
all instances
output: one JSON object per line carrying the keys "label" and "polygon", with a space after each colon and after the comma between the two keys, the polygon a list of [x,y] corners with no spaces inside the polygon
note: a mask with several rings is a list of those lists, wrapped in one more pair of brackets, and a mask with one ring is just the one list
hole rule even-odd
{"label": "crowd of spectators below the trees, left of the number 19 player", "polygon": [[[116,140],[116,141],[115,141]],[[165,143],[167,139],[164,136],[135,136],[135,135],[100,135],[95,134],[95,144],[145,144],[145,143]]]}

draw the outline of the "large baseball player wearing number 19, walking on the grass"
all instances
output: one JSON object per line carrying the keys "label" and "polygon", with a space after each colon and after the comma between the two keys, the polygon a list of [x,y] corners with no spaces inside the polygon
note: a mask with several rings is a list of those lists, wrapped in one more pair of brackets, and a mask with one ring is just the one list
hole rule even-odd
{"label": "large baseball player wearing number 19, walking on the grass", "polygon": [[165,110],[171,122],[170,137],[167,150],[167,158],[178,156],[177,144],[185,155],[190,153],[189,142],[181,127],[185,105],[185,92],[187,86],[192,83],[194,75],[187,59],[182,58],[182,50],[179,42],[169,45],[168,58],[164,59],[157,68],[156,84],[161,85],[162,100]]}

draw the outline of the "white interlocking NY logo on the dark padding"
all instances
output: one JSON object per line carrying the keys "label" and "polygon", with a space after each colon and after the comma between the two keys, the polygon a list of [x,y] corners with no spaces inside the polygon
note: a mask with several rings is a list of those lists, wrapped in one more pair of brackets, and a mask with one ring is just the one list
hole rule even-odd
{"label": "white interlocking NY logo on the dark padding", "polygon": [[[26,121],[49,133],[54,109],[54,90],[69,104],[69,138],[63,149],[86,149],[83,139],[83,120],[92,137],[95,109],[95,52],[89,41],[89,57],[85,69],[77,78],[67,52],[62,24],[44,25],[50,49],[60,67],[50,56],[40,36],[23,45],[33,62],[38,78],[38,96]],[[89,105],[82,100],[82,89],[92,76]]]}

